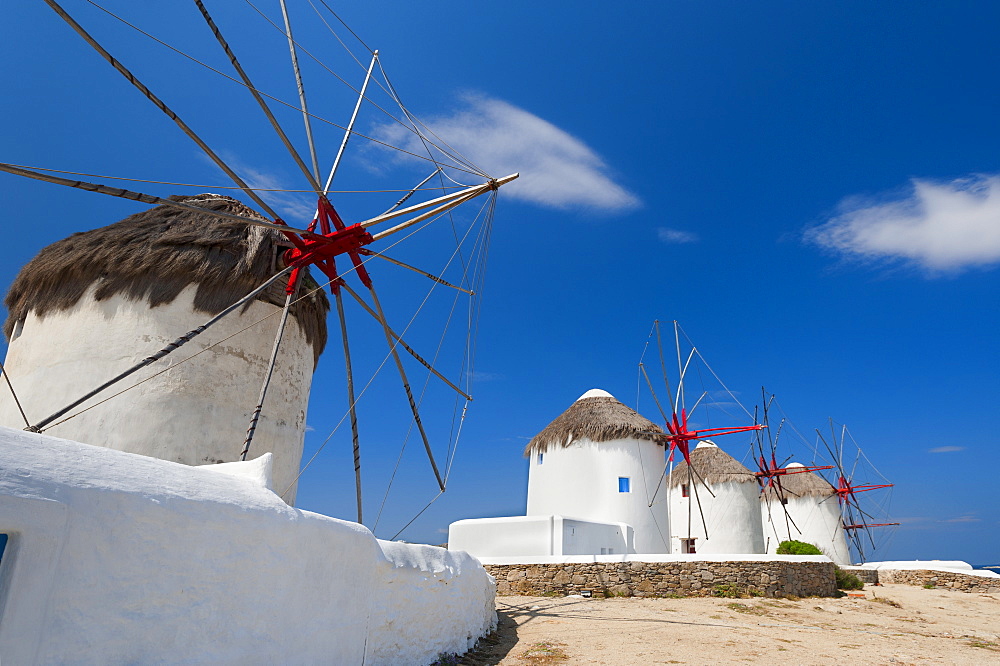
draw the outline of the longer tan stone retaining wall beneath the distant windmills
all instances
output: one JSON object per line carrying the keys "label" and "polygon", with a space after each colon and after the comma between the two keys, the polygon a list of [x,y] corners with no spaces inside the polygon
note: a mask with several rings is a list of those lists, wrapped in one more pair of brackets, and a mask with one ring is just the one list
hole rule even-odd
{"label": "longer tan stone retaining wall beneath the distant windmills", "polygon": [[768,597],[832,597],[832,562],[596,562],[486,564],[500,595],[709,596],[717,586]]}

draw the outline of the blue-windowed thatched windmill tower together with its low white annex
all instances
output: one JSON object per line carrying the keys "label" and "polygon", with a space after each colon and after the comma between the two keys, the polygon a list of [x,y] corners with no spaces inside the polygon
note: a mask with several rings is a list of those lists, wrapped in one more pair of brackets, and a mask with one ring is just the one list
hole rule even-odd
{"label": "blue-windowed thatched windmill tower together with its low white annex", "polygon": [[525,448],[527,516],[452,523],[449,549],[477,557],[670,552],[661,432],[610,393],[587,391]]}

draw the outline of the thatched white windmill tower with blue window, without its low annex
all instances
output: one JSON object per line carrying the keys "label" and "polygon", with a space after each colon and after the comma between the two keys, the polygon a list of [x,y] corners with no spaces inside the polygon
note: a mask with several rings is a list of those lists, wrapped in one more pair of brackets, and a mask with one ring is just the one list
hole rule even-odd
{"label": "thatched white windmill tower with blue window, without its low annex", "polygon": [[663,474],[661,432],[610,393],[587,391],[524,450],[527,515],[627,523],[634,552],[670,552],[662,487],[654,499]]}

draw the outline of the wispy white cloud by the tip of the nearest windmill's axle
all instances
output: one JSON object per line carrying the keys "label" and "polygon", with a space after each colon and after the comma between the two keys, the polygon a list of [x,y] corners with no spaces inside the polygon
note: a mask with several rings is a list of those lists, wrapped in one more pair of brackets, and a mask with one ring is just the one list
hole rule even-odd
{"label": "wispy white cloud by the tip of the nearest windmill's axle", "polygon": [[[547,120],[499,99],[469,94],[464,108],[424,119],[433,132],[494,176],[519,172],[505,194],[551,208],[624,211],[639,199],[617,184],[607,164],[580,139]],[[374,135],[424,154],[420,140],[398,124],[381,125]]]}

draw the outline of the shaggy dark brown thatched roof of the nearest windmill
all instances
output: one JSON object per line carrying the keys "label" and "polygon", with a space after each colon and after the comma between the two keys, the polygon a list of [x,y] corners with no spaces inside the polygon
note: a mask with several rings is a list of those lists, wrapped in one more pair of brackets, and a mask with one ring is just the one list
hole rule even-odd
{"label": "shaggy dark brown thatched roof of the nearest windmill", "polygon": [[[265,220],[226,196],[170,198]],[[288,241],[270,229],[157,206],[109,226],[73,234],[39,252],[7,292],[4,334],[10,339],[15,324],[31,311],[44,317],[72,307],[91,287],[96,287],[98,301],[122,294],[155,307],[170,303],[194,284],[195,309],[217,314],[277,272],[277,257],[287,247]],[[311,278],[302,284],[315,288]],[[285,282],[279,280],[257,298],[281,306],[284,289]],[[292,308],[316,358],[326,344],[329,309],[322,291]]]}

